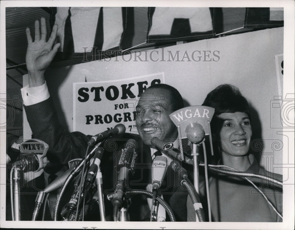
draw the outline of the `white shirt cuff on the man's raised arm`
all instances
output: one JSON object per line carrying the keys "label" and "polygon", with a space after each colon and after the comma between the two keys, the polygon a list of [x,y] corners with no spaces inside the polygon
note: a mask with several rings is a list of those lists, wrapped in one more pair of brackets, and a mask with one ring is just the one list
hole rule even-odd
{"label": "white shirt cuff on the man's raised arm", "polygon": [[46,81],[43,85],[37,87],[29,87],[29,85],[27,85],[20,90],[22,92],[24,105],[34,105],[50,97]]}

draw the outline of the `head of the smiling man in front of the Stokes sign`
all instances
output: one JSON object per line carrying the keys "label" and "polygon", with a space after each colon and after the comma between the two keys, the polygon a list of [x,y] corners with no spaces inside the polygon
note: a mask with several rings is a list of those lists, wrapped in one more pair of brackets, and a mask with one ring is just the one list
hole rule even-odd
{"label": "head of the smiling man in front of the Stokes sign", "polygon": [[170,114],[183,107],[180,93],[170,85],[150,86],[140,95],[136,106],[136,127],[143,143],[153,146],[153,137],[174,142],[178,138],[177,127]]}

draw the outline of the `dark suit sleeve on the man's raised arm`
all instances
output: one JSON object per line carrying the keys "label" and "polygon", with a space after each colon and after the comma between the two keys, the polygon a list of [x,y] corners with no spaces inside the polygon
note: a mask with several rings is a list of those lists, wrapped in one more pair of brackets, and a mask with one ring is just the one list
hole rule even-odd
{"label": "dark suit sleeve on the man's raised arm", "polygon": [[91,138],[81,132],[69,133],[60,124],[51,97],[40,103],[24,106],[33,137],[49,145],[47,158],[62,164],[85,156]]}

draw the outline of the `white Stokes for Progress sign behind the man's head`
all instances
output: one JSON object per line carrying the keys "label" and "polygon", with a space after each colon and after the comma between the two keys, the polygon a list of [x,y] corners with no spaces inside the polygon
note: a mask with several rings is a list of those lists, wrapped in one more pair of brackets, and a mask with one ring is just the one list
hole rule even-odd
{"label": "white Stokes for Progress sign behind the man's head", "polygon": [[165,83],[164,73],[101,82],[73,83],[73,130],[95,135],[122,123],[137,133],[135,104],[151,85]]}

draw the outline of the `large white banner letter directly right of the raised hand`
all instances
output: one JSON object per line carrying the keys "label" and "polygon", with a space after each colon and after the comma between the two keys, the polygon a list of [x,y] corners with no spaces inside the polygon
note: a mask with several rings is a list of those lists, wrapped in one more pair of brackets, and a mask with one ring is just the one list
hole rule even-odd
{"label": "large white banner letter directly right of the raised hand", "polygon": [[[71,15],[70,15],[71,14]],[[102,14],[102,15],[100,15]],[[66,19],[68,23],[66,23]],[[102,20],[102,21],[100,21]],[[122,8],[121,7],[58,7],[55,15],[55,24],[58,24],[57,36],[61,42],[60,51],[66,47],[65,31],[69,27],[72,30],[74,52],[91,52],[100,25],[103,33],[102,47],[97,50],[107,50],[118,47],[123,32]],[[66,28],[68,27],[68,28]],[[71,35],[71,33],[70,33]],[[86,50],[83,47],[87,47]]]}

